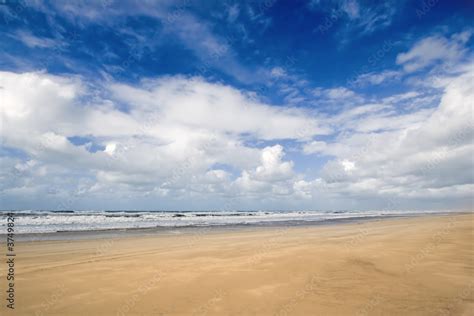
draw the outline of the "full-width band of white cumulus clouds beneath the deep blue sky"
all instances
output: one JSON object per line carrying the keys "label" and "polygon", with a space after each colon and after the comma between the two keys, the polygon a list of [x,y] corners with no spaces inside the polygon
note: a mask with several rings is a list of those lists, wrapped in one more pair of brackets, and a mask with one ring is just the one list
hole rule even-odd
{"label": "full-width band of white cumulus clouds beneath the deep blue sky", "polygon": [[[399,55],[401,66],[435,63],[439,57],[421,60],[419,52],[438,40],[416,43]],[[382,198],[466,207],[474,189],[474,68],[456,69],[437,74],[429,90],[380,98],[345,87],[312,90],[331,106],[325,114],[201,77],[132,85],[0,72],[2,201],[113,197],[149,207],[162,198],[237,197],[341,208],[376,207]],[[298,150],[304,155],[294,159]],[[300,163],[312,159],[319,169],[309,176]]]}

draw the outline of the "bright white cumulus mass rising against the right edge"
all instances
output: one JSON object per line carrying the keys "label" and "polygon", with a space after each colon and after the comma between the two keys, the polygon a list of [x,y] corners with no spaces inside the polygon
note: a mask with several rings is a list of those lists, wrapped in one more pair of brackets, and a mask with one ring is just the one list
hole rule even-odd
{"label": "bright white cumulus mass rising against the right edge", "polygon": [[473,79],[471,69],[447,82],[435,109],[365,117],[350,124],[355,133],[308,144],[307,153],[335,159],[307,186],[359,197],[457,198],[466,206],[474,189]]}

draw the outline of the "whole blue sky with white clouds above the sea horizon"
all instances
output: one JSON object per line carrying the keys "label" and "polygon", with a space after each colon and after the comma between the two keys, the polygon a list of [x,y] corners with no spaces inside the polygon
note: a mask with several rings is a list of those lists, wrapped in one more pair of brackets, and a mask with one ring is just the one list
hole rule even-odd
{"label": "whole blue sky with white clouds above the sea horizon", "polygon": [[0,209],[472,209],[474,2],[0,1]]}

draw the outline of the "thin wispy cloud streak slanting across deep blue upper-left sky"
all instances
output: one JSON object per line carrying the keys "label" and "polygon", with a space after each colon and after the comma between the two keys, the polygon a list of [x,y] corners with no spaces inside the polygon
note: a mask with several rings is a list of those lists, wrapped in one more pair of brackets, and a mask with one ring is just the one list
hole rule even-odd
{"label": "thin wispy cloud streak slanting across deep blue upper-left sky", "polygon": [[[51,14],[48,5],[32,2],[32,6]],[[188,50],[192,51],[200,63],[195,67],[196,76],[211,77],[218,70],[233,76],[241,82],[261,82],[266,80],[263,69],[253,69],[243,65],[233,50],[234,41],[240,39],[241,34],[234,32],[228,36],[220,36],[213,32],[213,25],[191,14],[191,4],[187,1],[160,1],[152,3],[141,1],[128,3],[126,1],[96,1],[91,3],[53,2],[50,4],[62,16],[77,23],[97,24],[102,27],[112,27],[119,33],[126,33],[135,37],[129,47],[132,52],[139,52],[143,47],[154,49],[158,39],[171,36],[177,39]],[[238,5],[228,6],[227,19],[229,23],[240,14]],[[162,28],[155,29],[153,36],[146,38],[128,28],[120,28],[120,19],[123,17],[147,16],[156,19]],[[107,67],[105,67],[107,68]],[[114,69],[113,67],[111,69]],[[120,69],[120,68],[119,68]],[[123,69],[122,69],[123,70]]]}

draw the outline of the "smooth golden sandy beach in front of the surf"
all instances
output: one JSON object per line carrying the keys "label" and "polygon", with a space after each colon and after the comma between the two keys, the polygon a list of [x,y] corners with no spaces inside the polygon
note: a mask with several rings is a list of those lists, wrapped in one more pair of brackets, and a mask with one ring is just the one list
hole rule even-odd
{"label": "smooth golden sandy beach in front of the surf", "polygon": [[0,314],[473,315],[473,219],[17,242]]}

